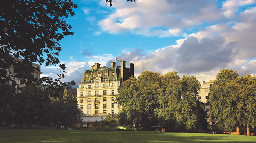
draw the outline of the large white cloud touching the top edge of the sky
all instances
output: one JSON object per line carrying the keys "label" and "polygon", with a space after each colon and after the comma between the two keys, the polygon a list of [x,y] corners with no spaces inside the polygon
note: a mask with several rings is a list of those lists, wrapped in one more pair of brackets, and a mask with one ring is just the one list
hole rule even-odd
{"label": "large white cloud touching the top edge of the sky", "polygon": [[136,4],[116,1],[116,11],[99,22],[109,33],[132,32],[146,36],[178,36],[183,28],[201,25],[204,21],[225,19],[215,1],[143,0]]}

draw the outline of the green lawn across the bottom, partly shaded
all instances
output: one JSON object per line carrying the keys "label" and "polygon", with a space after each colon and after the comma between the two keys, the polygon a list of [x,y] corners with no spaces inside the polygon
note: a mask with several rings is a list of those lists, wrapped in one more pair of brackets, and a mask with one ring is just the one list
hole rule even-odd
{"label": "green lawn across the bottom, partly shaded", "polygon": [[71,142],[71,143],[228,143],[255,142],[255,136],[171,133],[153,131],[103,132],[88,130],[0,130],[0,143]]}

